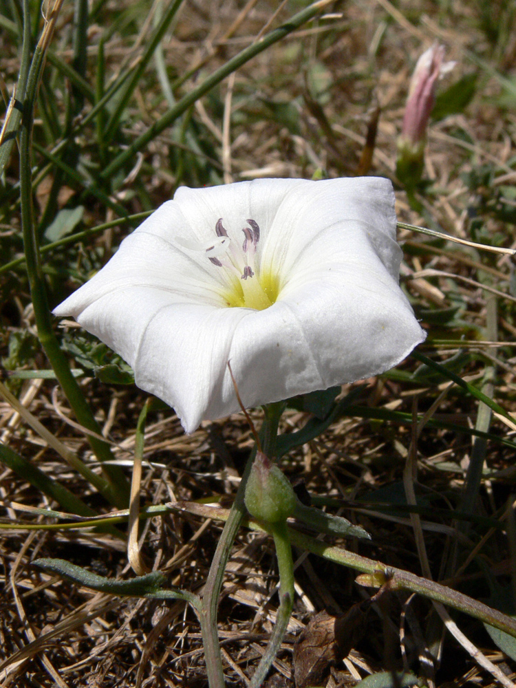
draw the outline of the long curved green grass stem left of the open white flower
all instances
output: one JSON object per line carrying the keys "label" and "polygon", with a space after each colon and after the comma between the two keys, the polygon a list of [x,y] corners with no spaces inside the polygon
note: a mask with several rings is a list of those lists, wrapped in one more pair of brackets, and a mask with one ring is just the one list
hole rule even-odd
{"label": "long curved green grass stem left of the open white flower", "polygon": [[[55,21],[55,19],[54,19]],[[92,410],[87,405],[83,393],[72,372],[67,360],[61,351],[50,318],[50,309],[47,302],[47,292],[41,268],[39,255],[39,241],[34,227],[34,209],[32,206],[32,125],[34,118],[34,103],[39,87],[39,79],[43,67],[45,45],[39,44],[34,52],[32,65],[28,76],[28,86],[23,104],[23,116],[20,133],[20,195],[21,195],[21,224],[23,230],[23,245],[25,248],[25,261],[27,264],[28,281],[32,304],[34,306],[34,319],[38,330],[39,341],[47,354],[50,365],[61,383],[69,403],[76,415],[78,422],[88,430],[100,434],[100,427],[96,422]],[[109,445],[92,436],[88,436],[96,457],[101,461],[112,461]],[[100,490],[109,502],[116,506],[126,506],[129,499],[129,486],[125,475],[119,466],[104,465],[103,472],[107,480]]]}

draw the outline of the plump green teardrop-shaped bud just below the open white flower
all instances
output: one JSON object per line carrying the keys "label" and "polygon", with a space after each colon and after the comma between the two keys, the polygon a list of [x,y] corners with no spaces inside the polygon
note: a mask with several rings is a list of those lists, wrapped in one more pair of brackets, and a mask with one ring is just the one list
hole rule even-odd
{"label": "plump green teardrop-shaped bud just below the open white flower", "polygon": [[257,452],[246,485],[246,507],[251,516],[275,524],[286,521],[296,508],[292,485],[264,453]]}

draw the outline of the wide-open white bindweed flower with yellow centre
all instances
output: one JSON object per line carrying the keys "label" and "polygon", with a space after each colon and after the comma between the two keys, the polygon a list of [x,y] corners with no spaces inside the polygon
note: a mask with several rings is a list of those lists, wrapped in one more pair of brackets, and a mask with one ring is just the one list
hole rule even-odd
{"label": "wide-open white bindweed flower with yellow centre", "polygon": [[391,183],[182,187],[55,310],[133,367],[184,429],[383,372],[424,340],[398,286]]}

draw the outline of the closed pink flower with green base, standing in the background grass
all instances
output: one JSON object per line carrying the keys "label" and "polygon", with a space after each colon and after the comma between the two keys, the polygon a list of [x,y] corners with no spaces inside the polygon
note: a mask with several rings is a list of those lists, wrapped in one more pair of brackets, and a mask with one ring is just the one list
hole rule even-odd
{"label": "closed pink flower with green base, standing in the background grass", "polygon": [[421,179],[427,125],[436,102],[436,83],[455,65],[443,60],[444,45],[434,43],[418,59],[410,81],[396,164],[398,179],[409,187]]}

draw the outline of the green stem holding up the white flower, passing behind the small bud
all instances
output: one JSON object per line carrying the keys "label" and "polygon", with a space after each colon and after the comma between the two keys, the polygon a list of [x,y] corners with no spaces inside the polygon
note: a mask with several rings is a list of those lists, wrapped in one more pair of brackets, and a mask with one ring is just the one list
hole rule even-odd
{"label": "green stem holding up the white flower, passing behind the small bud", "polygon": [[[271,404],[265,407],[265,411],[266,415],[260,431],[260,440],[262,447],[268,447],[272,450],[272,455],[274,455],[279,417],[283,411],[283,405]],[[222,658],[220,655],[219,636],[217,632],[217,608],[219,605],[219,594],[222,588],[224,572],[226,570],[231,548],[233,547],[233,542],[235,541],[235,537],[237,537],[238,529],[246,513],[244,495],[246,493],[246,484],[252,462],[255,460],[256,451],[257,449],[254,447],[246,463],[244,475],[242,475],[237,494],[235,495],[235,502],[233,502],[228,520],[226,521],[224,530],[222,530],[222,535],[217,544],[215,555],[211,561],[206,585],[204,586],[200,620],[202,640],[204,643],[204,656],[206,657],[206,672],[208,674],[208,685],[210,688],[224,688],[226,685],[224,682],[224,671],[222,670]]]}

